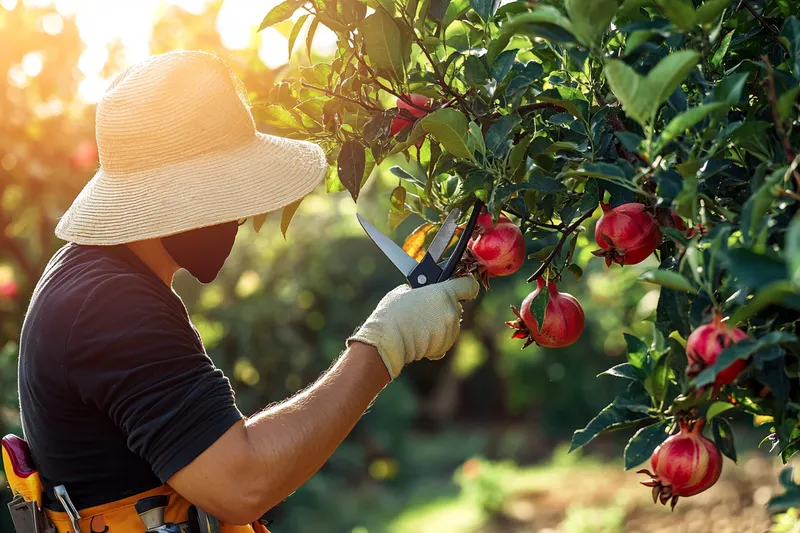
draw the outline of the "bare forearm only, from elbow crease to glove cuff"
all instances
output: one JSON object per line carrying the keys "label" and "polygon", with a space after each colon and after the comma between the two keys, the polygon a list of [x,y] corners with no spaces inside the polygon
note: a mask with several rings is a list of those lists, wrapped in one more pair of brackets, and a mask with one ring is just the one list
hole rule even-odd
{"label": "bare forearm only, from elbow crease to glove cuff", "polygon": [[265,511],[319,470],[388,381],[377,351],[354,343],[313,386],[246,422],[269,488]]}

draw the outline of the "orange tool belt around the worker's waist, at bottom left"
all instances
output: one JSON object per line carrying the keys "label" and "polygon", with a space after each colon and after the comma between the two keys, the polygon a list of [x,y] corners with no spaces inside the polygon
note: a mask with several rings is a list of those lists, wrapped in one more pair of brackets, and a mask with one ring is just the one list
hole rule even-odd
{"label": "orange tool belt around the worker's waist, at bottom left", "polygon": [[[43,486],[39,472],[33,465],[27,443],[19,437],[7,435],[2,440],[2,449],[3,468],[14,496],[9,509],[12,510],[12,506],[16,506],[17,509],[16,513],[12,510],[12,520],[15,516],[21,517],[18,519],[26,528],[25,531],[17,533],[145,533],[147,528],[136,510],[136,504],[153,496],[169,499],[164,508],[165,523],[175,524],[182,532],[198,531],[198,526],[193,525],[193,520],[197,521],[197,509],[169,485],[162,485],[111,503],[77,510],[80,518],[74,521],[68,512],[43,509]],[[26,519],[24,509],[30,509],[30,520]],[[258,522],[247,526],[234,526],[224,522],[217,523],[213,517],[210,520],[218,526],[212,526],[208,530],[210,533],[269,533],[266,526]],[[74,522],[77,522],[78,531],[73,526]],[[204,530],[200,528],[199,531]]]}

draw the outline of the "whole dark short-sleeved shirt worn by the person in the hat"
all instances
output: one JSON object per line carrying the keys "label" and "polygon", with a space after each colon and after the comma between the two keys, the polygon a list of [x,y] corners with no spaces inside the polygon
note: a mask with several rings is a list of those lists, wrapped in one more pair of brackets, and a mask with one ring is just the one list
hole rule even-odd
{"label": "whole dark short-sleeved shirt worn by the person in the hat", "polygon": [[59,250],[20,341],[25,438],[81,509],[166,482],[242,419],[181,299],[126,246]]}

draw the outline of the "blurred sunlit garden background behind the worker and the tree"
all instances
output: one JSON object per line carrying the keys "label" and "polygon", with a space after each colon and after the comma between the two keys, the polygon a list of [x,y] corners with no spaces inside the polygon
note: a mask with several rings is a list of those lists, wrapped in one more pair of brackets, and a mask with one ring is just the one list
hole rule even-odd
{"label": "blurred sunlit garden background behind the worker and the tree", "polygon": [[[153,53],[203,49],[244,80],[258,119],[274,81],[325,61],[336,44],[320,26],[312,57],[298,45],[289,63],[293,20],[256,33],[276,3],[0,0],[0,433],[21,434],[19,331],[33,285],[63,244],[55,223],[98,166],[95,103],[125,66]],[[348,193],[320,187],[301,204],[285,239],[279,216],[258,234],[242,228],[214,283],[176,279],[245,414],[313,382],[402,281],[355,213],[386,229],[396,178],[385,169],[403,163],[377,170],[358,206]],[[406,220],[397,240],[417,222]],[[658,299],[657,287],[635,281],[655,262],[606,269],[590,253],[593,224],[579,242],[583,278],[567,274],[561,287],[586,312],[577,343],[521,351],[504,322],[513,318],[509,306],[533,287],[523,273],[493,280],[466,308],[450,356],[416,363],[392,383],[320,473],[271,512],[273,533],[800,531],[794,515],[776,521],[764,510],[779,491],[779,464],[758,451],[763,435],[749,420],[736,426],[737,440],[753,451],[738,467],[726,459],[722,481],[673,513],[652,504],[639,476],[623,472],[629,433],[567,454],[572,432],[623,386],[596,375],[623,361],[623,332],[649,336]],[[9,496],[0,492],[0,501]],[[5,509],[0,531],[11,531]]]}

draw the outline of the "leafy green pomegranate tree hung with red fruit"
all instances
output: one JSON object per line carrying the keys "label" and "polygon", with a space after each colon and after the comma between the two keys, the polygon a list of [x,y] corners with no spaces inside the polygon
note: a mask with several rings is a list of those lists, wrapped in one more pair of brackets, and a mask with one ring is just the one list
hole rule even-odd
{"label": "leafy green pomegranate tree hung with red fruit", "polygon": [[[533,284],[496,317],[524,346],[580,336],[558,284],[581,278],[577,235],[598,210],[596,261],[657,258],[641,275],[661,286],[652,336],[626,334],[627,362],[598,379],[627,389],[572,449],[627,430],[625,467],[648,461],[642,483],[673,506],[736,461],[731,413],[784,463],[800,450],[800,2],[287,0],[261,28],[298,10],[290,51],[323,25],[335,58],[255,111],[323,146],[327,190],[354,201],[402,155],[388,226],[423,220],[404,244],[417,257],[482,200],[462,273]],[[797,504],[782,482],[773,505]]]}

